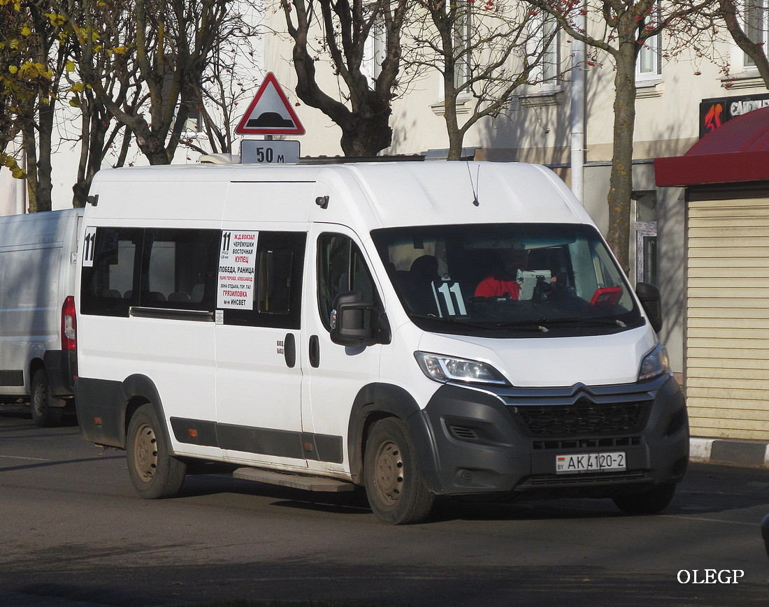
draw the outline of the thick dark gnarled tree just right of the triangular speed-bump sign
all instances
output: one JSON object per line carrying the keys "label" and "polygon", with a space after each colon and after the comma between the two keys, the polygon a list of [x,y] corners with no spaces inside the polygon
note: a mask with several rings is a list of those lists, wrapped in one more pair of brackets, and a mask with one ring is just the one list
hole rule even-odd
{"label": "thick dark gnarled tree just right of the triangular speed-bump sign", "polygon": [[[409,0],[281,0],[301,101],[318,108],[341,128],[347,156],[374,156],[392,142],[391,104],[399,91],[401,31]],[[322,32],[315,40],[314,32]],[[366,41],[384,45],[378,75],[370,78],[363,62]],[[316,55],[328,55],[341,91],[323,91],[315,71]]]}

